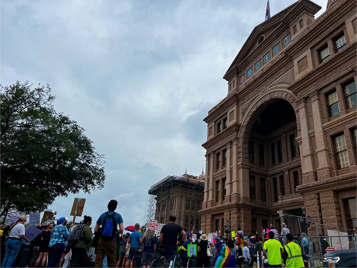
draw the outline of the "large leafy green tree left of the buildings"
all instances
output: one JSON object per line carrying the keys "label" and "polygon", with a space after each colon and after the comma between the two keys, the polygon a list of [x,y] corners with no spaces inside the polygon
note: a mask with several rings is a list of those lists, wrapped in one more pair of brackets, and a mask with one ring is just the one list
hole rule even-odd
{"label": "large leafy green tree left of the buildings", "polygon": [[57,113],[49,85],[1,86],[0,216],[40,212],[56,197],[104,186],[104,156],[84,129]]}

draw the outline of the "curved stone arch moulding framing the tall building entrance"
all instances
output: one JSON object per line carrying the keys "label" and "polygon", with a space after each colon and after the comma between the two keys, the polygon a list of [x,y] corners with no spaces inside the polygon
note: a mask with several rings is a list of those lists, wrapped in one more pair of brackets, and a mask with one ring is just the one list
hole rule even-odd
{"label": "curved stone arch moulding framing the tall building entrance", "polygon": [[248,140],[255,120],[264,111],[264,109],[272,103],[279,100],[288,101],[295,111],[297,118],[297,131],[300,131],[300,120],[296,103],[297,95],[287,89],[289,86],[290,84],[284,84],[269,88],[267,91],[263,92],[261,96],[257,97],[247,108],[244,116],[242,117],[238,132],[238,140],[240,141],[238,143],[238,162],[245,162],[243,161],[243,158],[248,155]]}

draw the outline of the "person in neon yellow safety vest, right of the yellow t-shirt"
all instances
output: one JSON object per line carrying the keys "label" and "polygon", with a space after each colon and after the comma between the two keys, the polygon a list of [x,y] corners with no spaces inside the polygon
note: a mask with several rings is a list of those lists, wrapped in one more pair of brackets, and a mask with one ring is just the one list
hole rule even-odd
{"label": "person in neon yellow safety vest, right of the yellow t-shirt", "polygon": [[286,234],[286,246],[284,247],[283,260],[286,268],[301,268],[305,267],[301,248],[297,243],[293,242],[294,236],[292,234]]}

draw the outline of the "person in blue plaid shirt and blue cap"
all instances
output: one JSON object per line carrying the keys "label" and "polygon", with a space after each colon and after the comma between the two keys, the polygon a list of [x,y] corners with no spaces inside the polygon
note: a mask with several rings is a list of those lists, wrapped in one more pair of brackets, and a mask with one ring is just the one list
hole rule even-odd
{"label": "person in blue plaid shirt and blue cap", "polygon": [[57,226],[53,229],[49,244],[49,260],[47,267],[58,267],[62,253],[67,247],[69,231],[66,227],[68,219],[60,217]]}

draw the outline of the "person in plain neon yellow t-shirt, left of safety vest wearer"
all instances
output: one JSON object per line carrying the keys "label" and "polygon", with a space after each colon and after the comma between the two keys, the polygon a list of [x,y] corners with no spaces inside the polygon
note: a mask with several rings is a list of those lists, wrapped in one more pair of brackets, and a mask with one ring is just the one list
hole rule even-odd
{"label": "person in plain neon yellow t-shirt, left of safety vest wearer", "polygon": [[279,241],[274,239],[274,232],[270,231],[268,236],[269,240],[265,241],[263,245],[263,255],[268,260],[268,267],[282,267],[283,246]]}

